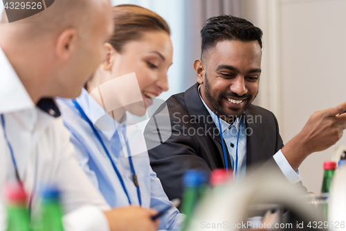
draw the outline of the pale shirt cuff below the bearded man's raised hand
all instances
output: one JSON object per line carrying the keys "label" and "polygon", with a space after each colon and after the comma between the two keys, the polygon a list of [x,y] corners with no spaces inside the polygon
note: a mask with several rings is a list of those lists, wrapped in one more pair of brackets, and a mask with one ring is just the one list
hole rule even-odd
{"label": "pale shirt cuff below the bearded man's raised hand", "polygon": [[302,180],[302,178],[300,177],[299,170],[294,171],[292,169],[291,164],[289,164],[289,162],[286,160],[286,157],[284,157],[284,154],[282,154],[281,149],[277,151],[275,155],[273,155],[273,158],[277,166],[279,166],[282,173],[284,173],[284,176],[286,176],[287,180],[289,180],[291,184],[295,184]]}

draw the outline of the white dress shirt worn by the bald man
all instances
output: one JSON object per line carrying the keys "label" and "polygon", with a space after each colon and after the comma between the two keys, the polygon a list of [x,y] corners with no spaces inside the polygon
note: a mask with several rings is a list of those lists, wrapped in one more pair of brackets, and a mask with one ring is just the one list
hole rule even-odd
{"label": "white dress shirt worn by the bald man", "polygon": [[[8,166],[7,171],[0,168],[0,176],[12,178],[15,173],[10,148],[4,138],[6,132],[19,178],[28,196],[33,196],[32,216],[39,213],[40,185],[49,183],[61,191],[66,231],[109,230],[102,210],[110,207],[80,168],[69,130],[57,117],[60,112],[54,101],[39,102],[43,109],[44,106],[55,106],[46,111],[33,103],[1,47],[0,102],[0,114],[4,115],[6,128],[0,126],[0,155],[2,159],[6,158]],[[0,178],[0,186],[4,180],[4,177]]]}

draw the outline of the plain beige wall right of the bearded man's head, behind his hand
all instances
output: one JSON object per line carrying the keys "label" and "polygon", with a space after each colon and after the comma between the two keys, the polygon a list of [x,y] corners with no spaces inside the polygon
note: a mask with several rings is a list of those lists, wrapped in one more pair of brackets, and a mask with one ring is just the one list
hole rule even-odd
{"label": "plain beige wall right of the bearded man's head, behind his hand", "polygon": [[[346,101],[345,0],[243,0],[242,15],[264,31],[263,74],[257,104],[272,110],[284,142],[310,115]],[[303,184],[318,193],[322,164],[335,146],[300,166]]]}

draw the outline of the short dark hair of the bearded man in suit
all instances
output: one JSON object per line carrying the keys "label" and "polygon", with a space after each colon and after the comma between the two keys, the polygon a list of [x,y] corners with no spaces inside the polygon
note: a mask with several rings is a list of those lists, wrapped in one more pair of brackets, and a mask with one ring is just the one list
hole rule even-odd
{"label": "short dark hair of the bearded man in suit", "polygon": [[201,56],[206,50],[216,46],[217,42],[224,40],[239,40],[242,42],[257,40],[262,49],[262,35],[262,30],[246,19],[232,15],[210,17],[201,30]]}

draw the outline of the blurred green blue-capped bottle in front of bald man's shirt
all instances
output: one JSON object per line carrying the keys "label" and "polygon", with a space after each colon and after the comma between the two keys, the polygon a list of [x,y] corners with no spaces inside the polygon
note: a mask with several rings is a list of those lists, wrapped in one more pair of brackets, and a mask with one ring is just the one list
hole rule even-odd
{"label": "blurred green blue-capped bottle in front of bald man's shirt", "polygon": [[60,192],[55,187],[47,187],[42,195],[42,230],[64,231]]}

